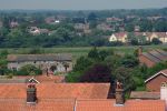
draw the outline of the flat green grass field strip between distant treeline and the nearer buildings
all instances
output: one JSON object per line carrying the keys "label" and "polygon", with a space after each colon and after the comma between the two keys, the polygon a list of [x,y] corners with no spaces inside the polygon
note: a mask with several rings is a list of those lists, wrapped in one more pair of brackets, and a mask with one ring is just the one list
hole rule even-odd
{"label": "flat green grass field strip between distant treeline and the nearer buildings", "polygon": [[[138,47],[99,47],[99,50],[114,50],[118,53],[132,53],[135,49]],[[167,44],[164,46],[144,46],[144,51],[151,49],[167,49]],[[32,48],[11,48],[11,49],[0,49],[8,50],[9,53],[20,54],[20,53],[29,53]],[[87,53],[91,50],[91,47],[81,47],[81,48],[40,48],[43,53],[71,53],[73,60],[79,58],[80,56],[87,56]]]}

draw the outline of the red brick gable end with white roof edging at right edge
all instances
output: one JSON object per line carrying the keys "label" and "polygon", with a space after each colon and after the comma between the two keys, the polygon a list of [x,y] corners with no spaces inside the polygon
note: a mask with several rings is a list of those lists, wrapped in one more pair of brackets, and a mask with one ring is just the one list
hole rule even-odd
{"label": "red brick gable end with white roof edging at right edge", "polygon": [[153,77],[148,78],[145,81],[145,83],[147,90],[159,92],[161,83],[166,81],[167,81],[167,69],[161,70],[158,73],[154,74]]}

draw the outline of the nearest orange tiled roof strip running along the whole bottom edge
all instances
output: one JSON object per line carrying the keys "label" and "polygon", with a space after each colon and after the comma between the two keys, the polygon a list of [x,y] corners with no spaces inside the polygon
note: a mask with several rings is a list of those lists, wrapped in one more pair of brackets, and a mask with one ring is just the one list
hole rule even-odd
{"label": "nearest orange tiled roof strip running along the whole bottom edge", "polygon": [[165,111],[163,100],[128,100],[116,105],[115,100],[42,99],[35,105],[22,99],[0,99],[0,111]]}

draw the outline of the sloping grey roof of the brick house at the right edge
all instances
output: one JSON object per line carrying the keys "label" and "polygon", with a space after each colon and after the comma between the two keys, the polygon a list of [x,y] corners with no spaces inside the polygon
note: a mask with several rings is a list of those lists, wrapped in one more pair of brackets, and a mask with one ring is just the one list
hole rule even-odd
{"label": "sloping grey roof of the brick house at the right edge", "polygon": [[167,52],[159,49],[149,52],[144,52],[143,56],[147,57],[154,62],[161,62],[167,60]]}

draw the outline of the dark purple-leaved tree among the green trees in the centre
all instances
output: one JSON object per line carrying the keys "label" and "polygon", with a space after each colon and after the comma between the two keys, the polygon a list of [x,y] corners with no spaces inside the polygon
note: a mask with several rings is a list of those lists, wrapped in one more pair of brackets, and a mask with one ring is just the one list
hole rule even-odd
{"label": "dark purple-leaved tree among the green trees in the centre", "polygon": [[102,63],[96,63],[80,77],[81,82],[111,82],[111,69]]}

